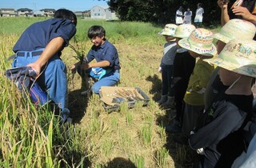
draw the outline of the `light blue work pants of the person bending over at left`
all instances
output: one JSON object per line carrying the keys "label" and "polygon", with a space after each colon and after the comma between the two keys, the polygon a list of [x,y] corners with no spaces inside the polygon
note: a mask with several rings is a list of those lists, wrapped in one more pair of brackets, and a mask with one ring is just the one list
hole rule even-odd
{"label": "light blue work pants of the person bending over at left", "polygon": [[[40,55],[32,55],[32,52],[35,51],[18,52],[24,53],[24,56],[17,56],[18,54],[16,54],[12,67],[26,66],[29,63],[35,62],[40,57]],[[50,100],[58,105],[62,110],[62,114],[69,115],[70,110],[67,109],[66,66],[64,62],[62,62],[58,55],[54,55],[46,63],[46,66],[42,67],[41,72],[42,73],[37,78],[36,82],[38,82],[38,85],[41,86],[42,90],[46,90]]]}

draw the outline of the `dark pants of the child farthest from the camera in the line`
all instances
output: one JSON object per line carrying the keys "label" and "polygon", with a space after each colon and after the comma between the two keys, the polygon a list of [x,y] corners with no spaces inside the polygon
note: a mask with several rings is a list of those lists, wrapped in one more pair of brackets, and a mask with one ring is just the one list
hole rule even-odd
{"label": "dark pants of the child farthest from the camera in the line", "polygon": [[174,89],[170,87],[173,77],[173,66],[162,64],[162,95],[174,96]]}

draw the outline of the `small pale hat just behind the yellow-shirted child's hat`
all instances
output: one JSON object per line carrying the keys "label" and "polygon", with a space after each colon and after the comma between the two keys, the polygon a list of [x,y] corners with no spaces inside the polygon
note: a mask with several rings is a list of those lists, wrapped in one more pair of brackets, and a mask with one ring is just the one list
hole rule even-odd
{"label": "small pale hat just behind the yellow-shirted child's hat", "polygon": [[188,38],[193,30],[195,30],[194,25],[190,25],[190,24],[179,25],[175,31],[174,37]]}

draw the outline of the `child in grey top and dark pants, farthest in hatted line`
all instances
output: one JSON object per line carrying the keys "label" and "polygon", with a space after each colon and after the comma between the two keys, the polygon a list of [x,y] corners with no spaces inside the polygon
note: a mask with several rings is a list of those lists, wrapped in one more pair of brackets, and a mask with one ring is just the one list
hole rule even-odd
{"label": "child in grey top and dark pants, farthest in hatted line", "polygon": [[165,28],[158,33],[166,38],[163,56],[158,70],[162,73],[162,95],[160,100],[158,100],[158,104],[164,107],[170,107],[174,102],[174,89],[170,87],[170,84],[173,77],[174,57],[177,50],[174,38],[176,28],[177,25],[166,24]]}

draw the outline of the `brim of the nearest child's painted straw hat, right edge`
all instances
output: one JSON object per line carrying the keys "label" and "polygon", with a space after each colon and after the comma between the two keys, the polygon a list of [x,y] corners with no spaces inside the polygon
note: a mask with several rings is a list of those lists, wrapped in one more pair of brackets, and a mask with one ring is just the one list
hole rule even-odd
{"label": "brim of the nearest child's painted straw hat, right edge", "polygon": [[233,71],[238,74],[243,74],[246,76],[250,76],[256,78],[256,65],[246,65],[246,66],[238,66],[237,64],[226,62],[222,58],[210,58],[204,59],[205,62],[208,62],[212,65],[222,67],[226,70]]}

